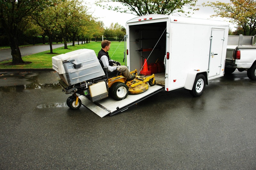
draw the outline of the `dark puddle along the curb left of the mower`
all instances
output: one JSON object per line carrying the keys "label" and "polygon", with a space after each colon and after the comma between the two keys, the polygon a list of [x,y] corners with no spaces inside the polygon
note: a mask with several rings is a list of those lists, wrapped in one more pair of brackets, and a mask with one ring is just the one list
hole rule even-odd
{"label": "dark puddle along the curb left of the mower", "polygon": [[0,91],[21,92],[31,89],[60,88],[57,83],[44,84],[38,82],[40,72],[2,72],[0,73]]}

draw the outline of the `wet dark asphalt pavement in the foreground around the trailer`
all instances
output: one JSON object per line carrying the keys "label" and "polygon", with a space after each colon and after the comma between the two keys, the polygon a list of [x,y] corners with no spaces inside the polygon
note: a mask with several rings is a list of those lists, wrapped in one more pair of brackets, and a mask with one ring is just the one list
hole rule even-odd
{"label": "wet dark asphalt pavement in the foreground around the trailer", "polygon": [[1,73],[0,169],[256,169],[256,81],[159,92],[100,118],[70,110],[54,72]]}

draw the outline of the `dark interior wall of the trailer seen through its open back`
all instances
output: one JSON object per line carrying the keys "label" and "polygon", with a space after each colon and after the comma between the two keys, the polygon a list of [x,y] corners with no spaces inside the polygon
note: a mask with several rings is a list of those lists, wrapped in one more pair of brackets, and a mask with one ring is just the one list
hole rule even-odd
{"label": "dark interior wall of the trailer seen through its open back", "polygon": [[[145,59],[148,59],[148,64],[156,63],[156,61],[164,62],[166,22],[132,25],[129,29],[130,70],[139,71]],[[154,47],[155,49],[151,51]],[[139,49],[145,51],[139,51]]]}

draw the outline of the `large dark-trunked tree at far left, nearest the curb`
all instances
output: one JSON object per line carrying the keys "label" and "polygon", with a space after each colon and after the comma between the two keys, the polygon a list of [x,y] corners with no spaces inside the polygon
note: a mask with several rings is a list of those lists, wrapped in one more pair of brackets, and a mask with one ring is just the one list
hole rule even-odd
{"label": "large dark-trunked tree at far left, nearest the curb", "polygon": [[0,0],[0,27],[8,35],[8,41],[11,47],[12,64],[22,64],[20,48],[18,43],[19,31],[26,28],[24,22],[33,11],[41,11],[49,1],[45,0]]}

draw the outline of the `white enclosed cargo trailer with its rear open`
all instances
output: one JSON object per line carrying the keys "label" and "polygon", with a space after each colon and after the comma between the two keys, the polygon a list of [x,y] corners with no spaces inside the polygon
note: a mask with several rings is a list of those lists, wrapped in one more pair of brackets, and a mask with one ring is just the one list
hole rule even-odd
{"label": "white enclosed cargo trailer with its rear open", "polygon": [[184,87],[200,96],[208,80],[224,75],[227,22],[152,14],[129,20],[126,32],[127,66],[164,62],[155,77],[165,91]]}

